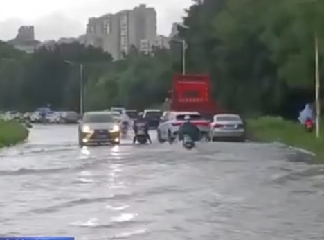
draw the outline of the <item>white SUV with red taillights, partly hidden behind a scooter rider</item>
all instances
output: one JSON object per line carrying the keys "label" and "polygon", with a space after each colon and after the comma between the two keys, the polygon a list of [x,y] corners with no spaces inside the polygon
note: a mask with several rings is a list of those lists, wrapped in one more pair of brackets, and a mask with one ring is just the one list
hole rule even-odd
{"label": "white SUV with red taillights, partly hidden behind a scooter rider", "polygon": [[210,121],[201,117],[199,112],[168,112],[159,123],[157,128],[157,137],[159,142],[175,139],[178,135],[179,127],[185,122],[184,117],[190,116],[190,121],[200,130],[202,135],[209,136]]}

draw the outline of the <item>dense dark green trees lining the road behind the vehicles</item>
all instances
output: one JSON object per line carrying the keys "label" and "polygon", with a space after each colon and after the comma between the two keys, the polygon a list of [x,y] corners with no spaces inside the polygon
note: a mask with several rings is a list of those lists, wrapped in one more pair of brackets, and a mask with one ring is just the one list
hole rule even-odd
{"label": "dense dark green trees lining the road behind the vehicles", "polygon": [[[176,38],[188,43],[187,70],[212,76],[224,108],[291,117],[314,98],[314,39],[322,57],[324,1],[196,0],[183,24],[188,28],[179,28]],[[170,50],[154,49],[153,55],[132,49],[112,62],[100,49],[77,43],[32,55],[2,43],[0,108],[49,103],[78,110],[79,65],[66,60],[84,64],[87,109],[145,108],[167,96],[172,74],[181,71],[181,44],[173,41]]]}

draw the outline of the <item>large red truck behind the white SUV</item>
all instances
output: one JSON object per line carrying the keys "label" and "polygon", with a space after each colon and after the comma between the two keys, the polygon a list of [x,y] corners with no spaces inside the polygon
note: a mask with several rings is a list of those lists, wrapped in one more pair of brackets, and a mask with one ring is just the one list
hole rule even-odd
{"label": "large red truck behind the white SUV", "polygon": [[197,111],[204,117],[220,112],[211,95],[210,76],[175,74],[170,94],[171,111]]}

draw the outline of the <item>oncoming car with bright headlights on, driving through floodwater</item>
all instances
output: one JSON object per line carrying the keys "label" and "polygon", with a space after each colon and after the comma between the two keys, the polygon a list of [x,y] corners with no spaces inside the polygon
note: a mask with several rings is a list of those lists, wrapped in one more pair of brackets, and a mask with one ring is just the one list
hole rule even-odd
{"label": "oncoming car with bright headlights on, driving through floodwater", "polygon": [[110,112],[86,112],[78,127],[79,145],[120,144],[120,127]]}

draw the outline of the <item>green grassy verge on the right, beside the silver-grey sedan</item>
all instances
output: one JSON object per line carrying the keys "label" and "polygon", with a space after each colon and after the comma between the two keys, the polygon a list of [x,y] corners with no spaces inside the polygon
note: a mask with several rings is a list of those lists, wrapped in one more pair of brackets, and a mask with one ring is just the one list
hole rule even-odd
{"label": "green grassy verge on the right, beside the silver-grey sedan", "polygon": [[[286,121],[280,117],[260,117],[247,121],[248,131],[253,138],[264,142],[282,142],[296,148],[303,148],[316,154],[316,160],[324,162],[324,121],[321,121],[321,137],[306,132],[300,123]],[[316,161],[316,162],[317,162]]]}

